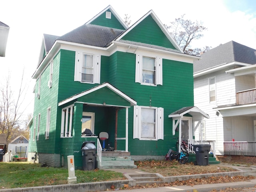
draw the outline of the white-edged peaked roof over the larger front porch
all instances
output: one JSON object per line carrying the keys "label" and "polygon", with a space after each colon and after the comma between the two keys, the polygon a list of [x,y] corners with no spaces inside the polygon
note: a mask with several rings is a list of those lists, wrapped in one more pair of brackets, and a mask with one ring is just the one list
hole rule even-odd
{"label": "white-edged peaked roof over the larger front porch", "polygon": [[[62,100],[61,102],[58,103],[58,106],[62,106],[68,102],[74,101],[78,98],[81,98],[82,96],[88,95],[90,93],[93,93],[97,90],[103,89],[103,88],[108,88],[109,90],[111,90],[112,92],[114,92],[116,95],[120,96],[121,98],[123,98],[124,100],[126,100],[127,102],[130,103],[130,106],[134,106],[137,104],[137,102],[135,100],[133,100],[132,98],[130,98],[129,96],[127,96],[126,94],[124,94],[123,92],[121,92],[120,90],[118,90],[117,88],[115,88],[114,86],[112,86],[111,84],[109,84],[108,82],[105,82],[103,84],[100,84],[98,86],[95,86],[93,88],[90,88],[88,90],[85,90],[83,92],[80,92],[78,94],[75,94],[69,98],[66,98],[65,100]],[[102,105],[106,105],[106,104],[102,104]],[[116,105],[118,106],[118,105]],[[126,106],[127,107],[127,106]]]}

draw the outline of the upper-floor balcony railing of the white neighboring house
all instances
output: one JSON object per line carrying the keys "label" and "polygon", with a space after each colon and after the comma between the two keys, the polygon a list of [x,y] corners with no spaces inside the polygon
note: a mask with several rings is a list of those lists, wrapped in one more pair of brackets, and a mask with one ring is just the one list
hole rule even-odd
{"label": "upper-floor balcony railing of the white neighboring house", "polygon": [[252,104],[256,103],[256,89],[250,89],[245,91],[240,91],[236,93],[236,104]]}

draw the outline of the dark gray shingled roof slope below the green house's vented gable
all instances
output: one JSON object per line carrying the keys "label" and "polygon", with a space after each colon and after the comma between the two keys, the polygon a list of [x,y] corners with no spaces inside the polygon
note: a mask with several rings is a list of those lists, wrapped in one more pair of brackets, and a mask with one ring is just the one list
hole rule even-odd
{"label": "dark gray shingled roof slope below the green house's vented gable", "polygon": [[97,47],[107,47],[124,30],[98,26],[93,24],[84,24],[67,34],[60,36],[58,40],[81,43]]}

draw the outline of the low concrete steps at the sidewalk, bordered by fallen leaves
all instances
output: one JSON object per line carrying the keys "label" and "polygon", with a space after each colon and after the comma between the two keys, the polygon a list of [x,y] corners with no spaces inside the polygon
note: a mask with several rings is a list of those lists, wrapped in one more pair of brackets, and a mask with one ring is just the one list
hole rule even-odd
{"label": "low concrete steps at the sidewalk, bordered by fallen leaves", "polygon": [[129,175],[132,179],[136,181],[137,186],[147,186],[147,185],[154,185],[154,184],[160,184],[164,181],[162,178],[157,176],[157,174],[135,174],[135,175]]}

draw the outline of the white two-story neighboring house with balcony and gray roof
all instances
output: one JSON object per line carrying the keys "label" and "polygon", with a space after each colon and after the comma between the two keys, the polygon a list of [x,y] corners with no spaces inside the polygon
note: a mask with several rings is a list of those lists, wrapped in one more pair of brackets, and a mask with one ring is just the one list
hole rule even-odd
{"label": "white two-story neighboring house with balcony and gray roof", "polygon": [[194,105],[210,116],[203,139],[216,141],[216,155],[256,156],[256,50],[230,41],[201,57],[194,62]]}

